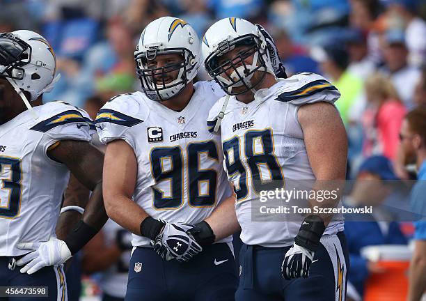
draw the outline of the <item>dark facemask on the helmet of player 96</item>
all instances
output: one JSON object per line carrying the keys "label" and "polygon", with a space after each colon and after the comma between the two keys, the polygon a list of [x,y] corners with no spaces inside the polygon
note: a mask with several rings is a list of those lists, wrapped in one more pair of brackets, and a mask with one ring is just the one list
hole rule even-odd
{"label": "dark facemask on the helmet of player 96", "polygon": [[[164,67],[149,67],[150,61],[165,54],[179,54],[182,61]],[[135,61],[136,74],[141,80],[142,90],[148,98],[155,101],[169,100],[182,92],[189,82],[187,75],[197,66],[194,54],[186,48],[167,48],[164,50],[153,48],[145,52],[136,50]],[[176,71],[179,71],[178,76],[166,83],[165,79],[171,77],[171,74]],[[161,81],[158,82],[157,79],[161,79]]]}

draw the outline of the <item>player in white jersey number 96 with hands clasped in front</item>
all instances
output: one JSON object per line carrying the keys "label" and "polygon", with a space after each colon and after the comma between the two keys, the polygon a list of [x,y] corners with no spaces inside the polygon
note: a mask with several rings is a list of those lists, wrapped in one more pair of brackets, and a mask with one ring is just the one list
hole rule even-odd
{"label": "player in white jersey number 96 with hands clasped in front", "polygon": [[235,197],[220,138],[205,127],[224,94],[214,82],[193,84],[200,41],[184,20],[148,24],[135,59],[143,92],[118,95],[96,118],[107,144],[105,208],[134,233],[125,299],[234,300]]}

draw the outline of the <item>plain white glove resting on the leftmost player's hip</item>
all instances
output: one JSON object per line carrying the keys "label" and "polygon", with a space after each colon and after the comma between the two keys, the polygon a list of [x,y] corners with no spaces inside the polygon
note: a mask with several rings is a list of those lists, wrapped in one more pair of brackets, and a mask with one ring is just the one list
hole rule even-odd
{"label": "plain white glove resting on the leftmost player's hip", "polygon": [[16,262],[18,266],[25,265],[20,270],[29,275],[49,265],[60,265],[72,257],[70,249],[63,240],[49,238],[47,242],[18,242],[18,249],[31,250]]}

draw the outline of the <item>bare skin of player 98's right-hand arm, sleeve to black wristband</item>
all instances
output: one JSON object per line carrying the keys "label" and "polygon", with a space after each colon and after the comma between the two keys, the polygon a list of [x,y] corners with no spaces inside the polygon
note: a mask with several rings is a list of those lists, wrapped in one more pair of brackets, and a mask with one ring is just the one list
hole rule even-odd
{"label": "bare skin of player 98's right-hand arm, sleeve to black wristband", "polygon": [[[346,174],[347,136],[338,110],[326,102],[316,102],[299,108],[298,118],[303,130],[303,139],[315,174],[316,190],[342,191]],[[337,186],[337,187],[336,187]],[[322,202],[313,200],[311,205],[334,208],[340,198]],[[332,215],[319,215],[325,226]]]}

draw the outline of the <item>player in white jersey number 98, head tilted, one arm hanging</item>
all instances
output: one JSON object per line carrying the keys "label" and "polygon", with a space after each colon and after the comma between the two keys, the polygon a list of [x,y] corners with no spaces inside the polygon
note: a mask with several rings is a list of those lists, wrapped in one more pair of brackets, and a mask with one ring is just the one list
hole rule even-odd
{"label": "player in white jersey number 98, head tilted, one arm hanging", "polygon": [[[277,79],[265,38],[246,20],[213,24],[202,52],[207,72],[228,94],[212,107],[207,125],[220,130],[225,169],[237,194],[244,245],[236,300],[344,300],[341,215],[269,214],[262,221],[255,211],[262,192],[274,187],[311,180],[317,189],[330,184],[319,180],[345,179],[347,138],[333,105],[340,93],[311,73]],[[336,199],[309,203],[323,208],[336,206]]]}

